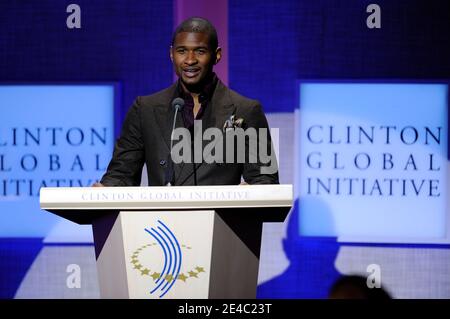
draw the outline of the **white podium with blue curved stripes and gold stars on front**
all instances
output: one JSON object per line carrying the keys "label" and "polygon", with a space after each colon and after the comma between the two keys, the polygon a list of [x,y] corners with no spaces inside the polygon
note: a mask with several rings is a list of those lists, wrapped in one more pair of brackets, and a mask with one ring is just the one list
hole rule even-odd
{"label": "white podium with blue curved stripes and gold stars on front", "polygon": [[41,208],[92,224],[102,298],[255,298],[263,222],[292,185],[42,188]]}

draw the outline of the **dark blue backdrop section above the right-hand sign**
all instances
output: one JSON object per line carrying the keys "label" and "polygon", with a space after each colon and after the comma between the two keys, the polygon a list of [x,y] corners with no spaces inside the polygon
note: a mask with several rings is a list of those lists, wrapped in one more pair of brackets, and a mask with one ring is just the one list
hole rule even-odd
{"label": "dark blue backdrop section above the right-hand sign", "polygon": [[[381,7],[381,29],[366,7]],[[230,83],[266,111],[297,107],[296,79],[449,78],[450,2],[229,0]]]}

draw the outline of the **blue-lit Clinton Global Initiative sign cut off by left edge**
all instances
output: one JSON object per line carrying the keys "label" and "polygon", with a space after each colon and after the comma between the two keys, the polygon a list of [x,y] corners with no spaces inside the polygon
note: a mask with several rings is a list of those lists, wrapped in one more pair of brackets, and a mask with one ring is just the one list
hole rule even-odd
{"label": "blue-lit Clinton Global Initiative sign cut off by left edge", "polygon": [[42,213],[39,189],[101,177],[114,143],[114,85],[2,85],[0,110],[0,237],[92,241],[90,230],[77,234],[90,226]]}

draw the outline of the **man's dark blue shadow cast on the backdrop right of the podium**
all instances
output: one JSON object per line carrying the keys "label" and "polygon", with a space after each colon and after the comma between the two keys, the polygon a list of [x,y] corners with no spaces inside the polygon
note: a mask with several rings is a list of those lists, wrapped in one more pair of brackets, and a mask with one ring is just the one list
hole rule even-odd
{"label": "man's dark blue shadow cast on the backdrop right of the podium", "polygon": [[[331,212],[319,199],[302,199],[302,207],[314,207],[323,229],[334,227]],[[289,267],[280,275],[258,286],[258,298],[325,299],[330,287],[340,277],[334,263],[339,252],[336,237],[307,237],[299,234],[299,201],[289,214],[283,249]],[[301,218],[300,218],[301,219]]]}

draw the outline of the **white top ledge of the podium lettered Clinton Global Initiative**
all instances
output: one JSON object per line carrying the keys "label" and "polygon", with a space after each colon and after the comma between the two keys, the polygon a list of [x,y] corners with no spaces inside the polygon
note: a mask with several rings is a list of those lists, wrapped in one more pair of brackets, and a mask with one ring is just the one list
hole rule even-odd
{"label": "white top ledge of the podium lettered Clinton Global Initiative", "polygon": [[[224,185],[170,187],[45,187],[41,209],[78,223],[87,212],[193,209],[273,209],[287,212],[293,201],[292,185]],[[71,218],[69,218],[70,213]],[[74,213],[76,213],[74,215]],[[78,217],[75,217],[78,216]],[[284,218],[283,218],[284,219]],[[86,221],[87,220],[87,221]],[[86,222],[83,222],[86,221]]]}

